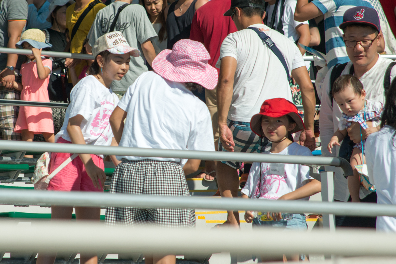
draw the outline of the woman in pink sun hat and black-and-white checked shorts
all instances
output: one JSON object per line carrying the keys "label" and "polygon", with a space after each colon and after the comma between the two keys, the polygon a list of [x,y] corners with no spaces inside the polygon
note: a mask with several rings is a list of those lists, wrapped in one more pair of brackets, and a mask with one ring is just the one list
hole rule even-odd
{"label": "woman in pink sun hat and black-and-white checked shorts", "polygon": [[[214,89],[217,70],[208,64],[200,42],[179,40],[152,62],[154,71],[141,74],[129,86],[110,117],[119,146],[214,151],[208,107],[192,94]],[[125,120],[125,123],[124,123]],[[116,156],[111,193],[190,196],[185,175],[198,170],[200,160]],[[192,209],[114,208],[106,210],[107,224],[195,226]],[[145,263],[175,264],[173,253],[145,255]]]}

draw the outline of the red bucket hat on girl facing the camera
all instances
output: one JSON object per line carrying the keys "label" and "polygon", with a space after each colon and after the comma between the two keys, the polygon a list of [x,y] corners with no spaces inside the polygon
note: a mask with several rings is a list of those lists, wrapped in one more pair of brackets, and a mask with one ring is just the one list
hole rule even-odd
{"label": "red bucket hat on girl facing the camera", "polygon": [[261,105],[260,113],[252,116],[250,120],[250,129],[251,131],[253,131],[253,133],[259,135],[260,137],[264,137],[264,134],[260,129],[261,117],[270,116],[277,118],[287,114],[296,122],[296,127],[292,131],[290,131],[290,133],[296,133],[300,130],[305,130],[304,122],[297,112],[297,107],[284,98],[273,98],[265,100],[264,103]]}

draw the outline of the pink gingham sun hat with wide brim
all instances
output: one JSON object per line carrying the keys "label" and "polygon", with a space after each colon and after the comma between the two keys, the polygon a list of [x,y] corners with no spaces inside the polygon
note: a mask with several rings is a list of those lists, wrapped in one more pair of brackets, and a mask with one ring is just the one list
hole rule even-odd
{"label": "pink gingham sun hat with wide brim", "polygon": [[152,68],[173,82],[194,82],[208,90],[217,85],[217,70],[208,64],[210,55],[204,45],[194,40],[179,40],[172,50],[164,49],[152,61]]}

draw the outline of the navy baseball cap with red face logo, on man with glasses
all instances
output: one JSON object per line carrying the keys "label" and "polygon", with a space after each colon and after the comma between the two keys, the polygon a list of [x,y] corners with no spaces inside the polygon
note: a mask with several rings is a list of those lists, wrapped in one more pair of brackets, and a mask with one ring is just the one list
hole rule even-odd
{"label": "navy baseball cap with red face logo, on man with glasses", "polygon": [[377,11],[367,6],[355,6],[345,11],[343,17],[343,23],[339,26],[344,29],[346,26],[354,24],[366,24],[373,27],[378,32],[381,30],[381,24]]}

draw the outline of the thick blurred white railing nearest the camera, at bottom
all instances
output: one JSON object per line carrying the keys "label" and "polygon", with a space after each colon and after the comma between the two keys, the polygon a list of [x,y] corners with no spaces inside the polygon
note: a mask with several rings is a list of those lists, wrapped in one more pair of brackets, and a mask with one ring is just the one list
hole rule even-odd
{"label": "thick blurred white railing nearest the camera, at bottom", "polygon": [[[0,248],[6,252],[23,250],[50,253],[61,250],[198,256],[220,252],[240,253],[245,256],[248,254],[279,256],[297,253],[341,256],[396,255],[394,250],[396,234],[367,230],[340,230],[335,233],[319,230],[311,232],[289,230],[285,233],[269,228],[203,230],[147,226],[108,227],[92,222],[65,221],[32,222],[31,226],[17,225],[11,221],[0,223],[3,227]],[[249,237],[250,242],[238,243],[241,237]],[[367,241],[368,238],[375,242],[367,247],[362,246],[360,242]],[[265,243],[263,240],[270,243]]]}

